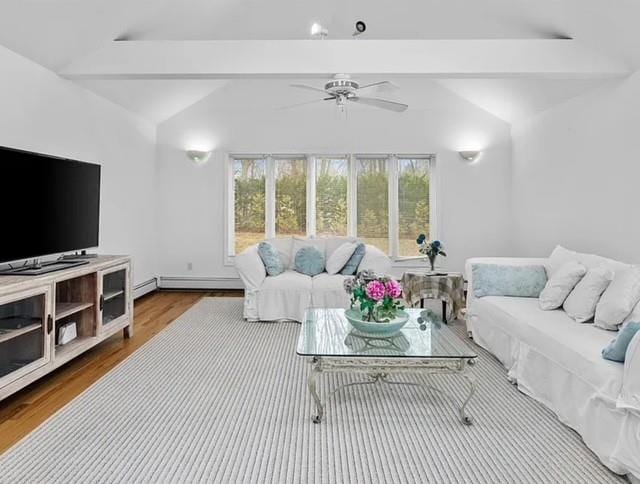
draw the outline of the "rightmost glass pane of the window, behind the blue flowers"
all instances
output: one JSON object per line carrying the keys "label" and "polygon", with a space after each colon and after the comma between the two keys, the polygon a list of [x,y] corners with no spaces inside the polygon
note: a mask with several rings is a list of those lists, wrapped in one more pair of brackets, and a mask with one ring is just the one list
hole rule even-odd
{"label": "rightmost glass pane of the window, behind the blue flowers", "polygon": [[429,237],[428,159],[398,160],[399,255],[417,256],[416,237]]}

